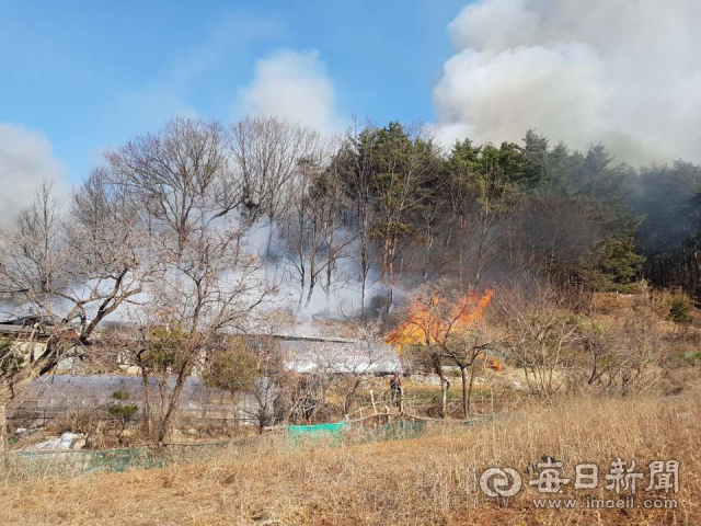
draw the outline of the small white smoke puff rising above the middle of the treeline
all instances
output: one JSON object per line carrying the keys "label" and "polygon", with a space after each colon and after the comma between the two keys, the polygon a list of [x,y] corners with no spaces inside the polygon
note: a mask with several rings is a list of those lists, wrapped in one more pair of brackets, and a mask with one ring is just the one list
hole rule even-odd
{"label": "small white smoke puff rising above the middle of the treeline", "polygon": [[325,135],[340,130],[345,122],[317,50],[279,49],[256,60],[253,82],[241,90],[238,111],[288,119]]}

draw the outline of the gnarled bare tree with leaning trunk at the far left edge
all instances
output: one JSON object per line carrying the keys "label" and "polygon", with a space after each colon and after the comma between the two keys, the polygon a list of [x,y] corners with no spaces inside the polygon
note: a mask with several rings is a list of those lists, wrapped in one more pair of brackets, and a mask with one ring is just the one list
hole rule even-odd
{"label": "gnarled bare tree with leaning trunk at the far left edge", "polygon": [[44,184],[15,228],[2,237],[3,297],[33,317],[27,338],[34,342],[43,338],[39,351],[27,347],[27,359],[4,399],[62,358],[89,352],[100,323],[141,294],[150,268],[135,217],[129,203],[96,171],[65,213],[53,198],[50,184]]}

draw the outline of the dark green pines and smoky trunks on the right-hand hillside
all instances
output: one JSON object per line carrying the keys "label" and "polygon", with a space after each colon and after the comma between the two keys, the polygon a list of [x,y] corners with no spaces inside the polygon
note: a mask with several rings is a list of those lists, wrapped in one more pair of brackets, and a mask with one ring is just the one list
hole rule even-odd
{"label": "dark green pines and smoky trunks on the right-hand hillside", "polygon": [[[266,157],[261,142],[245,151],[245,136],[269,136],[265,129],[279,124],[234,127],[240,165],[251,153]],[[366,309],[365,289],[378,279],[387,294],[381,315],[397,286],[451,276],[479,287],[514,272],[600,291],[645,278],[701,294],[698,165],[635,169],[605,145],[582,152],[533,130],[521,144],[464,139],[446,150],[397,122],[324,146],[300,155],[289,174],[262,169],[245,186],[248,209],[273,221],[284,241],[275,253],[292,262],[300,306],[314,287],[329,297],[357,281]],[[342,273],[343,259],[359,268]]]}

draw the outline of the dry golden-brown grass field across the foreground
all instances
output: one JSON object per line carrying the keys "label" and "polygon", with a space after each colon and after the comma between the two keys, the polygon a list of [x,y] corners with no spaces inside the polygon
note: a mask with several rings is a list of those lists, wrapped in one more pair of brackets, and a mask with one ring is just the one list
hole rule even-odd
{"label": "dry golden-brown grass field across the foreground", "polygon": [[[256,451],[219,454],[196,465],[7,481],[0,488],[0,523],[701,524],[700,424],[701,407],[696,393],[688,393],[568,400],[437,436],[334,449],[289,451],[276,441],[264,441]],[[643,472],[653,459],[678,459],[679,507],[539,511],[531,504],[538,494],[526,482],[507,503],[475,490],[484,468],[513,466],[524,472],[543,455],[564,461],[564,476],[577,462],[599,464],[599,489],[591,494],[605,498],[612,495],[604,490],[604,473],[617,456],[634,458]]]}

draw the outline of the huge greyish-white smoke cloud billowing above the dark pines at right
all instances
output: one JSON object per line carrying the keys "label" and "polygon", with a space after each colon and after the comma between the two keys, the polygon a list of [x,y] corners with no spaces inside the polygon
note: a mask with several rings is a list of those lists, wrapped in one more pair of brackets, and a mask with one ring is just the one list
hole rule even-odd
{"label": "huge greyish-white smoke cloud billowing above the dark pines at right", "polygon": [[449,25],[434,90],[444,144],[605,142],[631,162],[701,161],[698,0],[481,0]]}

